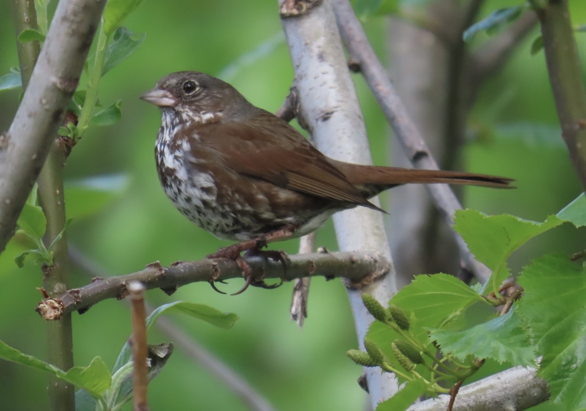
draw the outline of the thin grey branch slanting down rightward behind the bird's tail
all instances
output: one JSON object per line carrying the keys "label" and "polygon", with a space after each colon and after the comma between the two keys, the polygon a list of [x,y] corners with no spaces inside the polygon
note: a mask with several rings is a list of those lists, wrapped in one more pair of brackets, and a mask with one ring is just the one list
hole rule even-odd
{"label": "thin grey branch slanting down rightward behind the bird's tail", "polygon": [[[403,145],[403,149],[409,155],[411,164],[416,168],[438,169],[437,162],[407,113],[407,109],[398,98],[349,2],[347,0],[333,0],[333,4],[342,39],[352,56],[359,60],[364,79],[379,101],[395,135]],[[488,280],[490,270],[474,258],[462,236],[453,229],[454,213],[462,206],[452,189],[445,184],[427,185],[427,189],[445,223],[451,227],[460,250],[462,266],[474,273],[480,281]]]}

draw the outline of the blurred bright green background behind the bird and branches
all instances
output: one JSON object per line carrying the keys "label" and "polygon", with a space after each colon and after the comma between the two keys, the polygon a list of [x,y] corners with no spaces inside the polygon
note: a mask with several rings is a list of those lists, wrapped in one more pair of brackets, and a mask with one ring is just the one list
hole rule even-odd
{"label": "blurred bright green background behind the bird and branches", "polygon": [[[483,14],[508,4],[487,1]],[[571,4],[574,23],[583,23],[586,5]],[[0,15],[0,73],[18,66],[11,12],[8,5],[5,9]],[[383,18],[366,22],[379,51],[385,23]],[[65,169],[67,210],[74,218],[67,232],[69,242],[111,275],[140,270],[155,260],[168,265],[202,259],[227,245],[192,225],[163,194],[153,152],[160,114],[138,96],[165,74],[198,70],[222,76],[257,106],[275,111],[293,77],[275,1],[145,1],[125,26],[134,33],[147,33],[147,38],[137,53],[104,77],[100,89],[104,105],[122,99],[122,120],[112,127],[91,129],[74,148]],[[580,193],[560,138],[543,53],[529,54],[536,36],[537,32],[529,36],[503,72],[483,88],[471,117],[475,133],[465,148],[471,171],[511,176],[517,179],[518,188],[466,189],[465,203],[470,208],[543,220]],[[577,36],[583,53],[584,34]],[[486,36],[479,35],[475,42],[484,39]],[[354,78],[374,160],[387,164],[387,125],[363,80],[359,75]],[[18,94],[0,94],[1,130],[11,123]],[[110,191],[90,195],[88,179],[107,185]],[[513,272],[545,252],[578,252],[586,248],[584,239],[584,231],[569,226],[547,233],[513,256]],[[336,250],[331,223],[318,232],[318,245]],[[297,240],[278,246],[295,253]],[[12,242],[0,256],[4,313],[0,339],[44,358],[45,324],[34,311],[41,298],[35,289],[42,284],[40,269],[32,264],[16,268],[13,258],[23,249],[22,244]],[[83,286],[88,277],[73,269],[71,283]],[[232,280],[222,288],[233,292],[241,285],[242,281]],[[322,278],[312,282],[309,318],[303,330],[289,321],[291,290],[288,283],[274,291],[251,288],[229,297],[215,293],[207,284],[191,284],[171,297],[159,290],[149,291],[147,296],[154,305],[185,300],[237,313],[240,320],[230,331],[179,316],[172,320],[277,409],[362,409],[365,395],[356,383],[361,369],[345,355],[357,342],[342,284],[339,280],[326,283]],[[107,300],[86,314],[74,314],[73,326],[76,364],[87,365],[94,356],[101,356],[112,366],[130,334],[130,313],[123,301]],[[156,330],[150,335],[151,343],[163,341],[168,339]],[[46,409],[46,378],[40,372],[0,362],[2,409]],[[150,387],[152,409],[247,409],[179,349]]]}

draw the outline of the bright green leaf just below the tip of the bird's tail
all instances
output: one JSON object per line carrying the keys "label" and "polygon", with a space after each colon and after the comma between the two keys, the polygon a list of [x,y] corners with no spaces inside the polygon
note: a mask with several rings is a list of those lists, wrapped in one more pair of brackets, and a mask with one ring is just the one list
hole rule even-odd
{"label": "bright green leaf just below the tip of the bird's tail", "polygon": [[464,237],[470,251],[493,270],[493,286],[510,275],[506,260],[533,237],[557,227],[563,220],[550,215],[543,223],[512,215],[487,216],[476,210],[456,211],[454,229]]}

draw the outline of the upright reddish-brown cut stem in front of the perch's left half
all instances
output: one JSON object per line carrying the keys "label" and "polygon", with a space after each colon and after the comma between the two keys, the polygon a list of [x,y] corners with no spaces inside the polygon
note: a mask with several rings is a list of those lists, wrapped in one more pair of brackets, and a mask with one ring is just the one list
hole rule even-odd
{"label": "upright reddish-brown cut stem in front of the perch's left half", "polygon": [[145,310],[145,291],[147,288],[139,281],[128,284],[132,303],[132,393],[134,411],[148,411],[148,345],[147,311]]}

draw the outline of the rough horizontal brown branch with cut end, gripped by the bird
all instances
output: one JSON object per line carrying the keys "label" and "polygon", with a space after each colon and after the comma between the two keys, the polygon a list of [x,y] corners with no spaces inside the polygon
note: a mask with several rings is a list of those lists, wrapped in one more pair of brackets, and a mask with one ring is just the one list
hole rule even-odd
{"label": "rough horizontal brown branch with cut end, gripped by the bird", "polygon": [[[326,278],[348,278],[349,286],[361,281],[374,281],[384,276],[390,264],[379,253],[315,253],[289,256],[287,273],[280,261],[268,261],[264,257],[246,257],[253,269],[253,275],[261,278],[282,278],[290,281],[307,276]],[[218,281],[228,278],[242,278],[242,273],[234,260],[214,259],[200,261],[181,261],[171,267],[163,267],[158,261],[136,273],[120,277],[93,278],[85,287],[73,288],[54,298],[45,298],[37,306],[37,311],[46,320],[57,320],[64,313],[81,311],[107,298],[124,298],[128,295],[127,284],[141,281],[148,290],[162,288],[172,294],[178,287],[196,281]]]}

